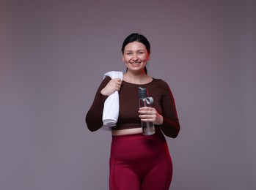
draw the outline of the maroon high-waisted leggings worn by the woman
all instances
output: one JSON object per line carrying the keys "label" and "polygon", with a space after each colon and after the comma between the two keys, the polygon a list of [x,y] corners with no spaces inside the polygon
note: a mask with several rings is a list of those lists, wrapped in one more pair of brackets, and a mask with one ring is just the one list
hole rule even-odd
{"label": "maroon high-waisted leggings worn by the woman", "polygon": [[149,136],[113,136],[109,163],[111,190],[169,189],[172,159],[160,130]]}

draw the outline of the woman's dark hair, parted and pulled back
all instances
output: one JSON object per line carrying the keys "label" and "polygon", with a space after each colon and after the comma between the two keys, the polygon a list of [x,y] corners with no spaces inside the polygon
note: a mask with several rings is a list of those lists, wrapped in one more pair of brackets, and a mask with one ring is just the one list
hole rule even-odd
{"label": "woman's dark hair, parted and pulled back", "polygon": [[[138,33],[133,33],[130,34],[128,37],[125,38],[125,40],[122,43],[122,53],[124,53],[125,50],[125,46],[128,45],[128,43],[131,42],[141,42],[142,44],[145,45],[146,49],[147,49],[147,53],[150,54],[150,42],[148,42],[147,38],[145,36],[143,36],[142,34],[138,34]],[[127,69],[126,69],[127,71]],[[145,73],[147,74],[147,68],[145,67]]]}

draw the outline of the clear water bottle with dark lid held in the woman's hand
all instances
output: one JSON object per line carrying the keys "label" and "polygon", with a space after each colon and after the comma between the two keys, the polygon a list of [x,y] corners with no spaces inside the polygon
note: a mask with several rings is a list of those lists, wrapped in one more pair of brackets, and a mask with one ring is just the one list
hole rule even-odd
{"label": "clear water bottle with dark lid held in the woman's hand", "polygon": [[[147,88],[139,87],[139,107],[151,107],[153,98],[148,97]],[[155,126],[153,122],[142,121],[142,131],[145,135],[155,133]]]}

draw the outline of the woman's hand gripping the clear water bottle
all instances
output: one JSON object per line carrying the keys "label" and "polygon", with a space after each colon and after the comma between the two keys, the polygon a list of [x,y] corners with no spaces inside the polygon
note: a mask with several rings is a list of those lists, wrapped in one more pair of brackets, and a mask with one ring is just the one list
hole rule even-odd
{"label": "woman's hand gripping the clear water bottle", "polygon": [[153,122],[155,125],[163,124],[163,116],[154,107],[140,107],[139,118],[141,121]]}

